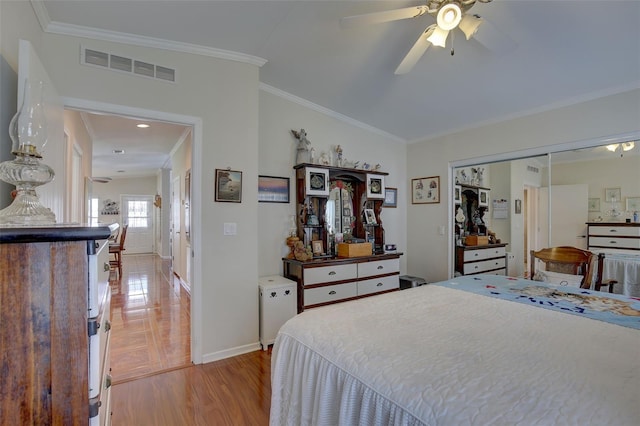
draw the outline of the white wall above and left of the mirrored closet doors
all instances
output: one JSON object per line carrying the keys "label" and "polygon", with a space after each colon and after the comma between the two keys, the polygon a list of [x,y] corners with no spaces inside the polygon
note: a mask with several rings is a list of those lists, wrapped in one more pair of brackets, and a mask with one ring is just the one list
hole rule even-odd
{"label": "white wall above and left of the mirrored closet doors", "polygon": [[[411,144],[408,179],[439,175],[443,190],[452,193],[450,162],[506,153],[516,156],[534,148],[638,132],[639,99],[640,90],[633,90]],[[448,215],[445,199],[436,205],[408,206],[407,271],[411,275],[429,280],[449,277],[451,233],[438,233],[439,226],[448,226]]]}

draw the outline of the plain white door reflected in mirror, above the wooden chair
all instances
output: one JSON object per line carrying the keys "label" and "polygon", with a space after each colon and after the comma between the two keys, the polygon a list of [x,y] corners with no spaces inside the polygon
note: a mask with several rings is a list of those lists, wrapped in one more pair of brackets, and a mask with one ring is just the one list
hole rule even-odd
{"label": "plain white door reflected in mirror, above the wooden chair", "polygon": [[536,249],[573,246],[586,250],[588,185],[552,185],[550,199],[547,187],[540,188],[539,194],[540,246]]}

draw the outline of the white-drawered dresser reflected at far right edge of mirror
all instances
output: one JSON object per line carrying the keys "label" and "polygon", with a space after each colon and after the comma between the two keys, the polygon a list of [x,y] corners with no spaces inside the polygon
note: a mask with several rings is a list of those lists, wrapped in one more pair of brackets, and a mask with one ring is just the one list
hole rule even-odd
{"label": "white-drawered dresser reflected at far right edge of mirror", "polygon": [[587,222],[588,247],[640,253],[640,223]]}

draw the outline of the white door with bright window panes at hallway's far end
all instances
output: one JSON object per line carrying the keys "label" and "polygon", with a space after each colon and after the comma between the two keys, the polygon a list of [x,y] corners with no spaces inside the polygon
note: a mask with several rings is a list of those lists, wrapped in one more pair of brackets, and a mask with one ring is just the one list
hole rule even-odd
{"label": "white door with bright window panes at hallway's far end", "polygon": [[121,205],[122,222],[129,225],[125,253],[153,253],[153,197],[122,195]]}

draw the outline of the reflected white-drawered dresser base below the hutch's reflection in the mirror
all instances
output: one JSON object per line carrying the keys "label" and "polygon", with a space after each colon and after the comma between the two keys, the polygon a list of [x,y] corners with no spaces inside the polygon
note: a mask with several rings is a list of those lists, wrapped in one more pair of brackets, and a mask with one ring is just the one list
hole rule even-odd
{"label": "reflected white-drawered dresser base below the hutch's reflection in the mirror", "polygon": [[462,275],[507,274],[507,244],[456,246],[456,272]]}

